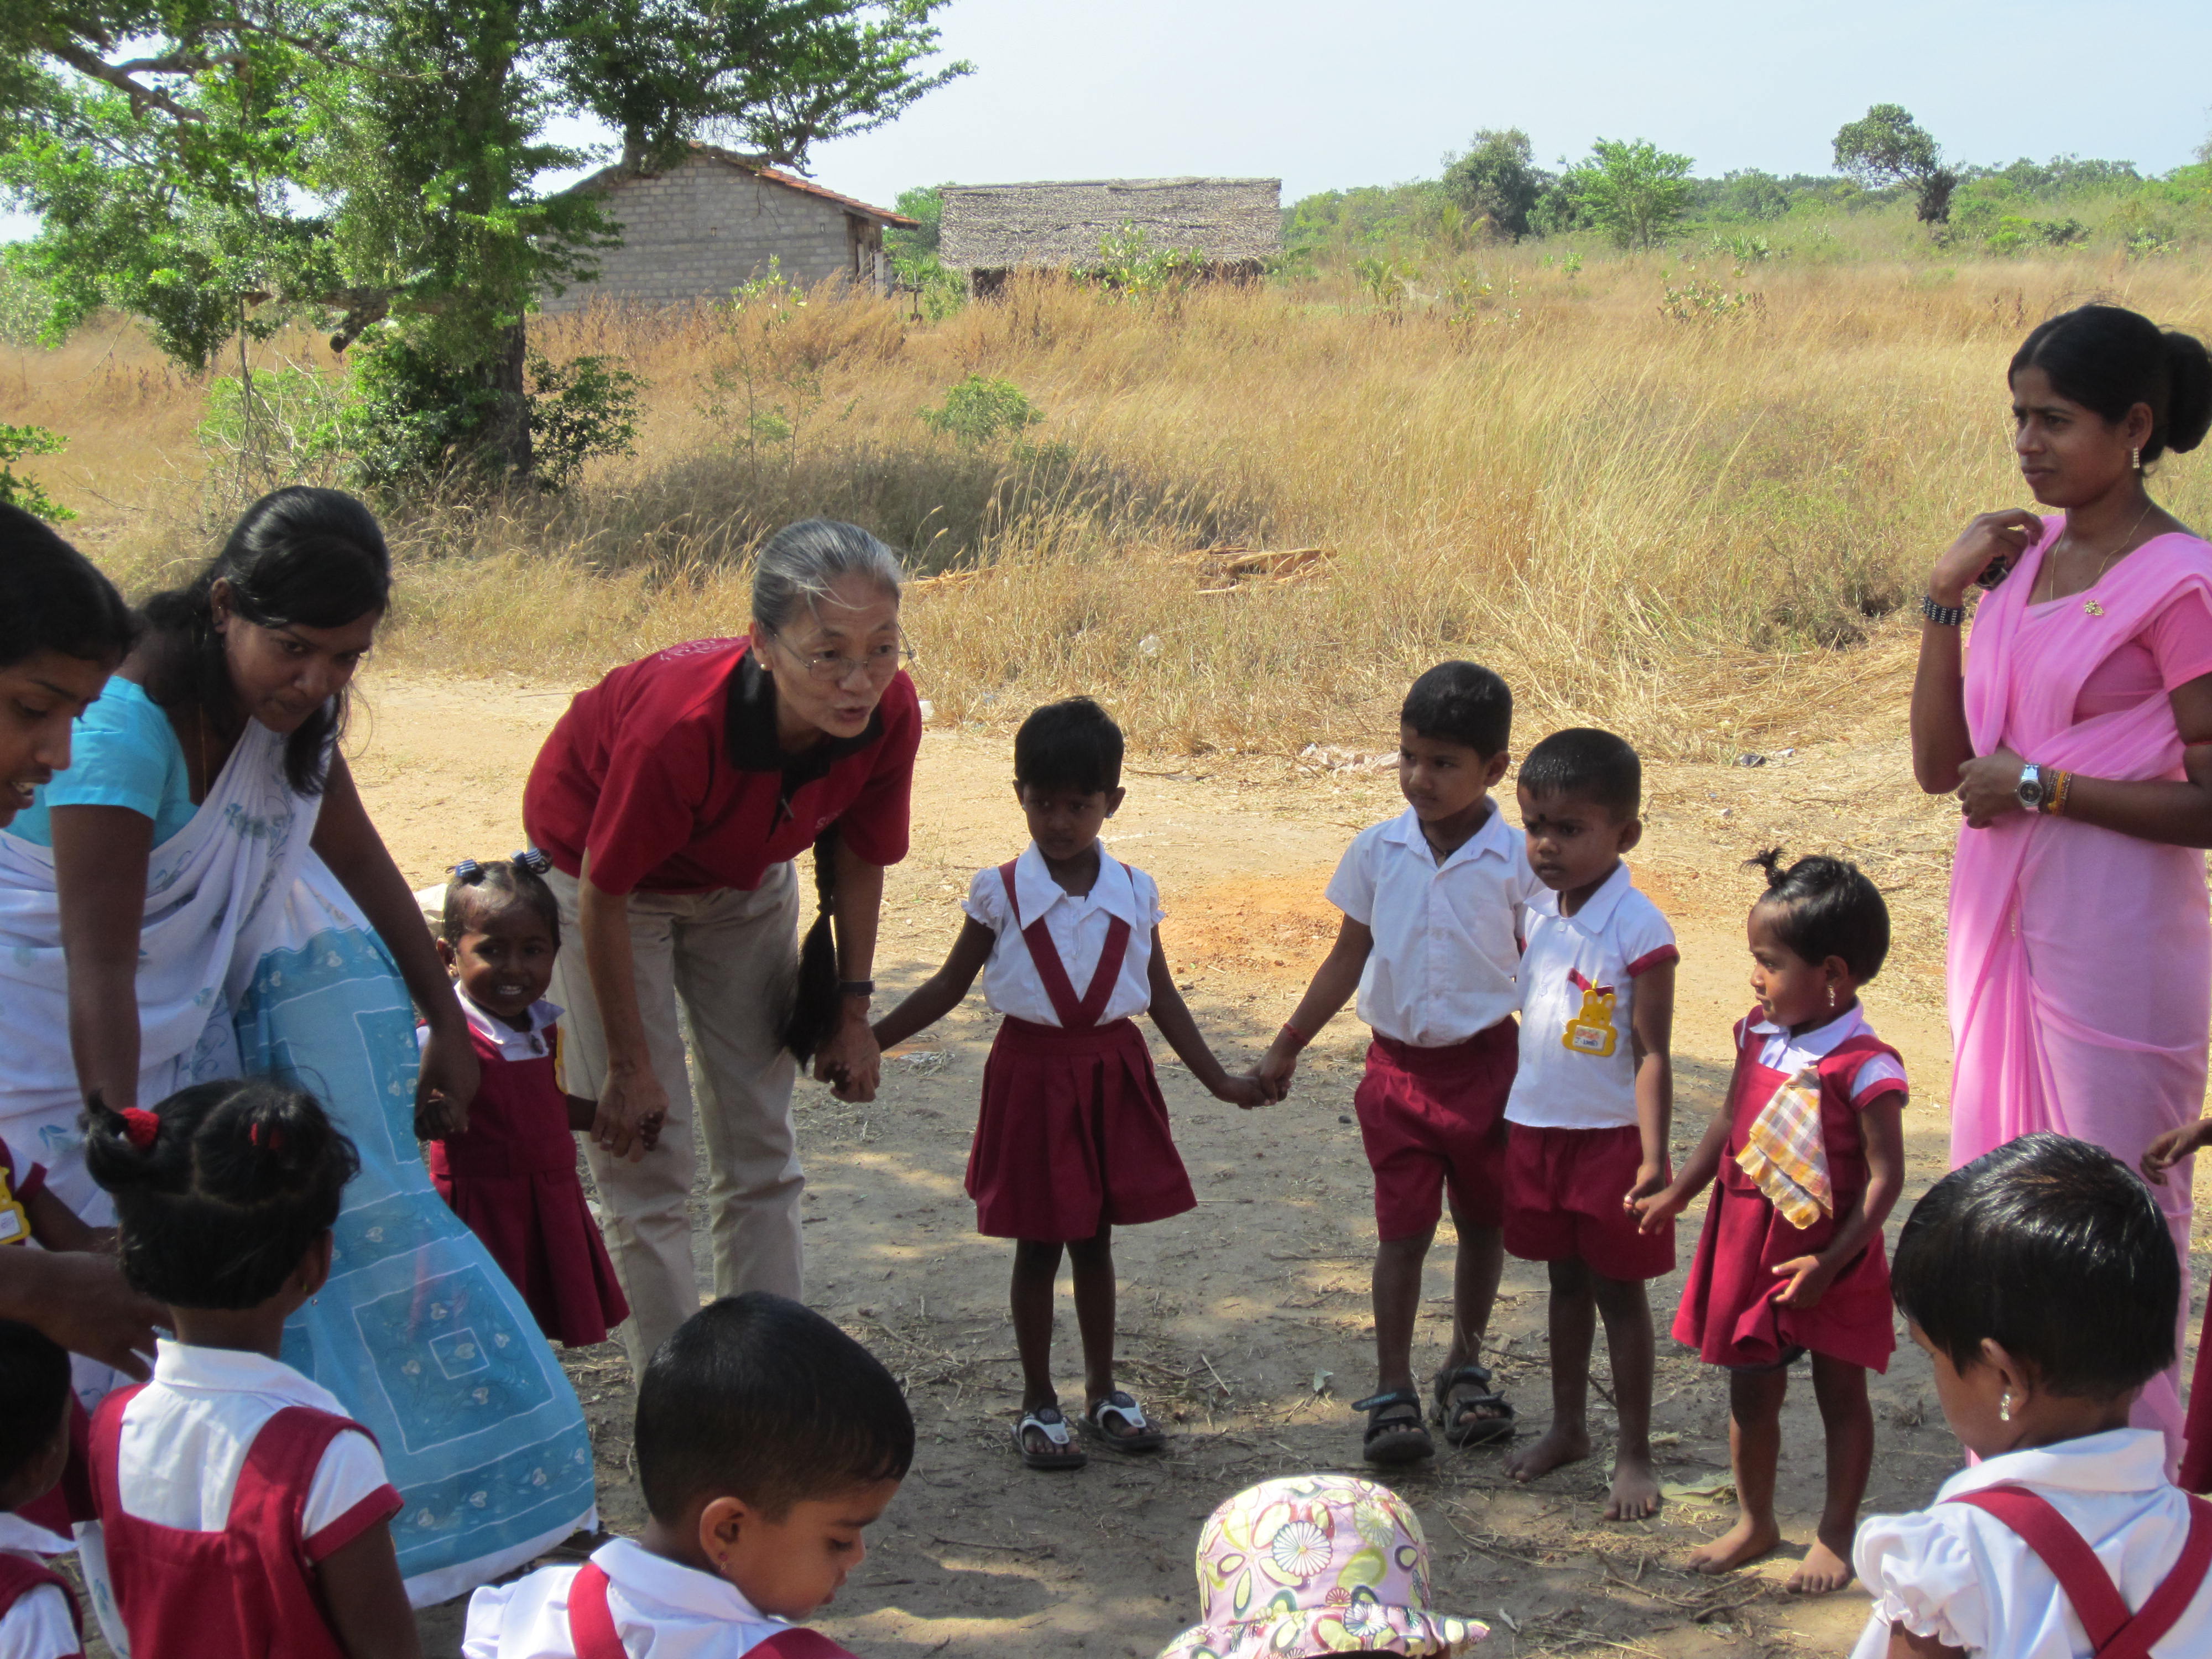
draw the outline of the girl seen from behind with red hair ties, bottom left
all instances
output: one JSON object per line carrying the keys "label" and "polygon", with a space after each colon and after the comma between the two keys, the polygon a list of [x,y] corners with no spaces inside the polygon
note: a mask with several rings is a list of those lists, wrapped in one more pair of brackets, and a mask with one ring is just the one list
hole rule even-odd
{"label": "girl seen from behind with red hair ties, bottom left", "polygon": [[177,1332],[153,1383],[93,1413],[84,1568],[131,1652],[420,1659],[376,1440],[279,1358],[330,1279],[354,1144],[296,1088],[219,1082],[153,1110],[93,1095],[84,1166],[115,1199],[124,1279]]}

